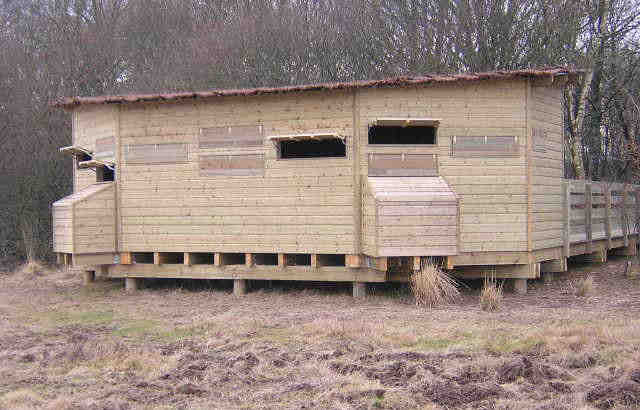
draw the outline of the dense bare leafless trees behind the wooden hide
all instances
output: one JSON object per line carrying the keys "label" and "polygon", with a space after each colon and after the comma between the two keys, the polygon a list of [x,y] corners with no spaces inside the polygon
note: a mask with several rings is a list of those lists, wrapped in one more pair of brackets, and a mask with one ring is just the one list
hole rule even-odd
{"label": "dense bare leafless trees behind the wooden hide", "polygon": [[0,0],[0,258],[49,258],[63,96],[573,65],[566,175],[640,161],[637,0]]}

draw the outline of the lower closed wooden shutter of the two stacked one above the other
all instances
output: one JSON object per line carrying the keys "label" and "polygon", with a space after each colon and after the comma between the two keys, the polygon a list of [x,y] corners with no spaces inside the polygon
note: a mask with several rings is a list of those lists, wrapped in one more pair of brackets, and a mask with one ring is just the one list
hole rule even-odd
{"label": "lower closed wooden shutter of the two stacked one above the other", "polygon": [[264,155],[200,155],[200,176],[264,175]]}

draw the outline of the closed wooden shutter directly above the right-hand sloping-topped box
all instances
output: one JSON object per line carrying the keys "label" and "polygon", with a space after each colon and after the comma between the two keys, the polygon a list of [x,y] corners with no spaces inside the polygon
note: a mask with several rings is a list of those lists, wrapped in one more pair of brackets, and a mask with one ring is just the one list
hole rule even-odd
{"label": "closed wooden shutter directly above the right-hand sloping-topped box", "polygon": [[369,154],[369,176],[436,176],[435,154]]}

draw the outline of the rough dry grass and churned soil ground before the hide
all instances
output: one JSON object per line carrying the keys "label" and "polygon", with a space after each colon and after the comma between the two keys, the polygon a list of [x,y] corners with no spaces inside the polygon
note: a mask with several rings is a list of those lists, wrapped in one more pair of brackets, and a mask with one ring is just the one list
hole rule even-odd
{"label": "rough dry grass and churned soil ground before the hide", "polygon": [[530,282],[493,313],[477,284],[425,309],[397,285],[238,298],[226,282],[126,294],[73,271],[0,271],[0,408],[638,408],[640,279],[623,265]]}

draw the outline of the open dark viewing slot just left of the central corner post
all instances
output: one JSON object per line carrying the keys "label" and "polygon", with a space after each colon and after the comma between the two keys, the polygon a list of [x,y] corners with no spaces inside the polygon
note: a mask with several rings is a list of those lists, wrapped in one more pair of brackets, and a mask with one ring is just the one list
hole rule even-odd
{"label": "open dark viewing slot just left of the central corner post", "polygon": [[335,134],[276,136],[279,159],[345,158],[345,140]]}

